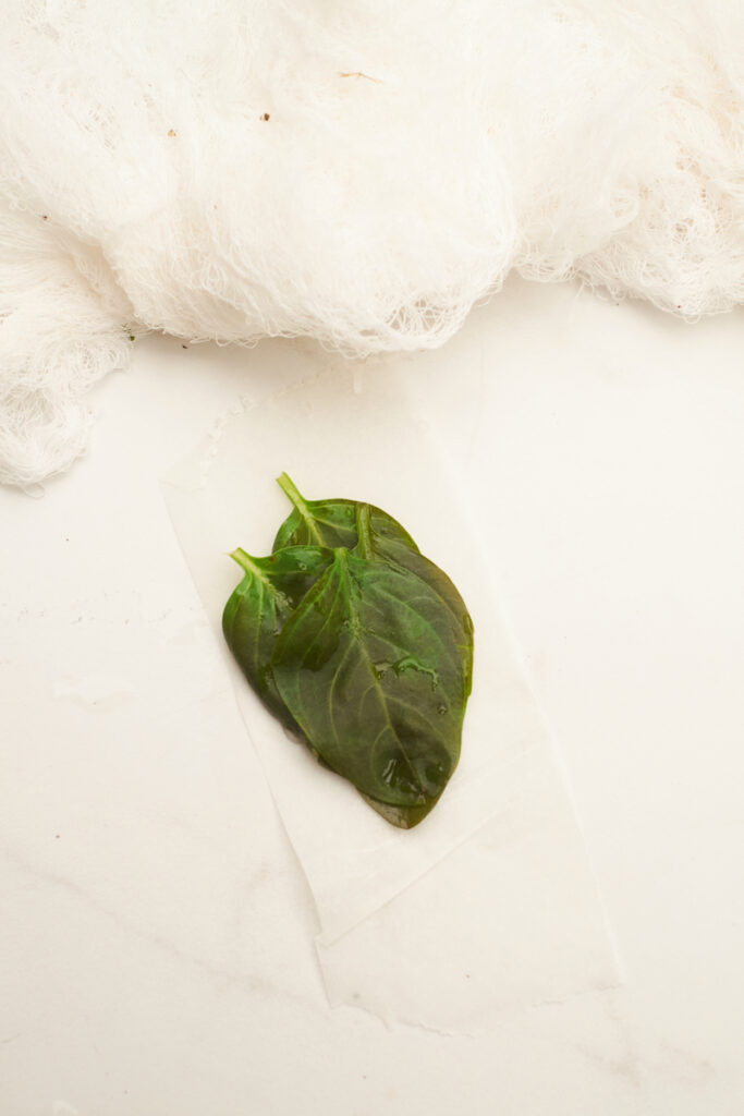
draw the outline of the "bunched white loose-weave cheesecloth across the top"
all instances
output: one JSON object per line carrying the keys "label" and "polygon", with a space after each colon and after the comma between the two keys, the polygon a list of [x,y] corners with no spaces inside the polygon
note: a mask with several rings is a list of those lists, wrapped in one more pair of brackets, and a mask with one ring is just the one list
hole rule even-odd
{"label": "bunched white loose-weave cheesecloth across the top", "polygon": [[743,299],[738,0],[10,0],[0,57],[3,481],[143,329],[410,350],[512,268]]}

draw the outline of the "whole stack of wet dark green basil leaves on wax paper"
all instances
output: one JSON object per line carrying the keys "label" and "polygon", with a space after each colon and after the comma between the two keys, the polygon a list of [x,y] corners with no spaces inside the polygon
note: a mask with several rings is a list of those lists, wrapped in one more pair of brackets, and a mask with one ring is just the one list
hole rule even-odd
{"label": "whole stack of wet dark green basil leaves on wax paper", "polygon": [[222,627],[267,709],[393,825],[435,806],[460,758],[473,624],[450,578],[392,516],[305,500],[244,577]]}

